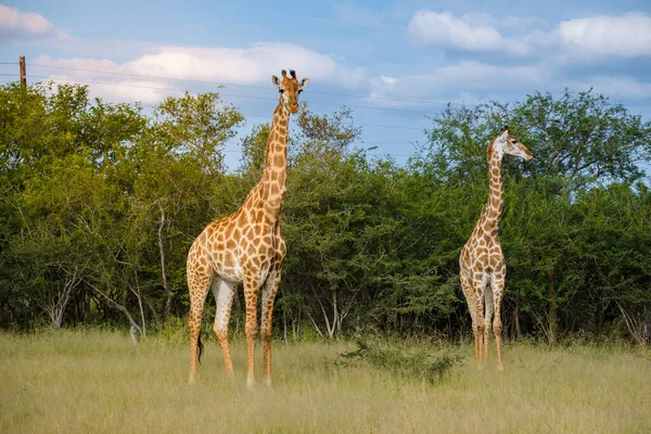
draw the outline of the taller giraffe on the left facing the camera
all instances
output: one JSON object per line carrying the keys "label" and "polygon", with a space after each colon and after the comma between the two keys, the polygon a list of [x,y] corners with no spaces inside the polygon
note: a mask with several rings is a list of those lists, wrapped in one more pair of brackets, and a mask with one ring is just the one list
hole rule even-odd
{"label": "taller giraffe on the left facing the camera", "polygon": [[308,79],[297,80],[294,71],[290,71],[288,76],[283,69],[282,80],[272,76],[271,81],[278,87],[280,97],[273,111],[263,178],[238,210],[208,224],[188,253],[190,383],[196,378],[197,348],[200,357],[203,349],[200,337],[201,320],[210,289],[217,304],[213,331],[221,347],[227,375],[233,376],[228,323],[237,285],[243,283],[248,350],[246,384],[250,388],[255,385],[256,309],[258,292],[261,289],[263,365],[265,381],[267,385],[271,385],[271,317],[286,253],[280,233],[280,214],[285,196],[288,127],[290,113],[298,111],[298,93]]}

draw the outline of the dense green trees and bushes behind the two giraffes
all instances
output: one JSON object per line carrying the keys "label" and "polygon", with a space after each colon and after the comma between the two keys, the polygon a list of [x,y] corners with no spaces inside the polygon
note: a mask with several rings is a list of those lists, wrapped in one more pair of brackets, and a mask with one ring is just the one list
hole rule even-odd
{"label": "dense green trees and bushes behind the two giraffes", "polygon": [[[243,120],[218,93],[146,114],[84,86],[1,87],[0,327],[144,334],[183,321],[190,244],[264,170],[268,124],[241,140],[237,170],[224,167]],[[349,108],[319,115],[304,103],[289,138],[275,331],[468,334],[458,256],[487,197],[486,145],[505,124],[535,155],[503,164],[507,336],[644,342],[651,123],[591,91],[450,105],[403,166],[354,148]]]}

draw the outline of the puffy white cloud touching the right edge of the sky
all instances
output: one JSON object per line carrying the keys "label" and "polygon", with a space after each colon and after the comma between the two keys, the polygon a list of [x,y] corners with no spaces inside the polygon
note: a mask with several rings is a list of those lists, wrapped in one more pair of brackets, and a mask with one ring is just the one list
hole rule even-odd
{"label": "puffy white cloud touching the right edge of the sky", "polygon": [[651,55],[651,16],[635,12],[560,23],[558,35],[572,52],[598,56]]}

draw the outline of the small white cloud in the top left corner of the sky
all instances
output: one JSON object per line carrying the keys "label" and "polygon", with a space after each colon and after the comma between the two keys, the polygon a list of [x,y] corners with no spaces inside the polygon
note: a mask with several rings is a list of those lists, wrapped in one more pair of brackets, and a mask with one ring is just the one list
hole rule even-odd
{"label": "small white cloud in the top left corner of the sky", "polygon": [[67,35],[42,15],[0,4],[0,41],[39,38],[65,39]]}

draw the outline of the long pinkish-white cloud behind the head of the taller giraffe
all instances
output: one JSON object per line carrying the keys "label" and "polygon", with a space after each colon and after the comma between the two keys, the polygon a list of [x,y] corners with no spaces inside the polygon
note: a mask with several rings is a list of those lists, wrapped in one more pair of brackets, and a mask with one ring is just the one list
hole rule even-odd
{"label": "long pinkish-white cloud behind the head of the taller giraffe", "polygon": [[[151,54],[143,54],[124,63],[98,59],[52,60],[41,56],[35,61],[35,64],[107,73],[99,75],[82,71],[39,69],[39,73],[48,71],[50,74],[54,71],[55,75],[50,77],[62,81],[78,80],[84,84],[90,80],[124,85],[111,86],[95,82],[90,84],[90,88],[93,95],[108,100],[141,101],[153,104],[174,94],[169,89],[182,90],[188,87],[197,89],[202,85],[129,77],[124,76],[125,74],[227,85],[268,85],[272,89],[271,75],[279,75],[281,69],[292,68],[296,71],[299,78],[310,78],[312,84],[322,81],[346,88],[358,87],[363,80],[363,71],[347,67],[343,62],[332,55],[295,44],[255,43],[244,49],[162,47]],[[212,89],[214,90],[215,87],[213,86]]]}

